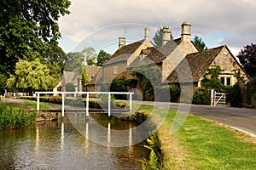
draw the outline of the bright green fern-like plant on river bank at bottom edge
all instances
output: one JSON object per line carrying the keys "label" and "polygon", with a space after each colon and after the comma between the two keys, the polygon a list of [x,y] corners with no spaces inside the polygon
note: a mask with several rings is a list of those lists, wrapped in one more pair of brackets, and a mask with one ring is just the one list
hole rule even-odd
{"label": "bright green fern-like plant on river bank at bottom edge", "polygon": [[161,162],[161,150],[160,141],[157,133],[153,133],[149,139],[147,139],[148,145],[144,145],[145,148],[150,150],[149,161],[140,160],[143,165],[143,170],[159,170]]}

